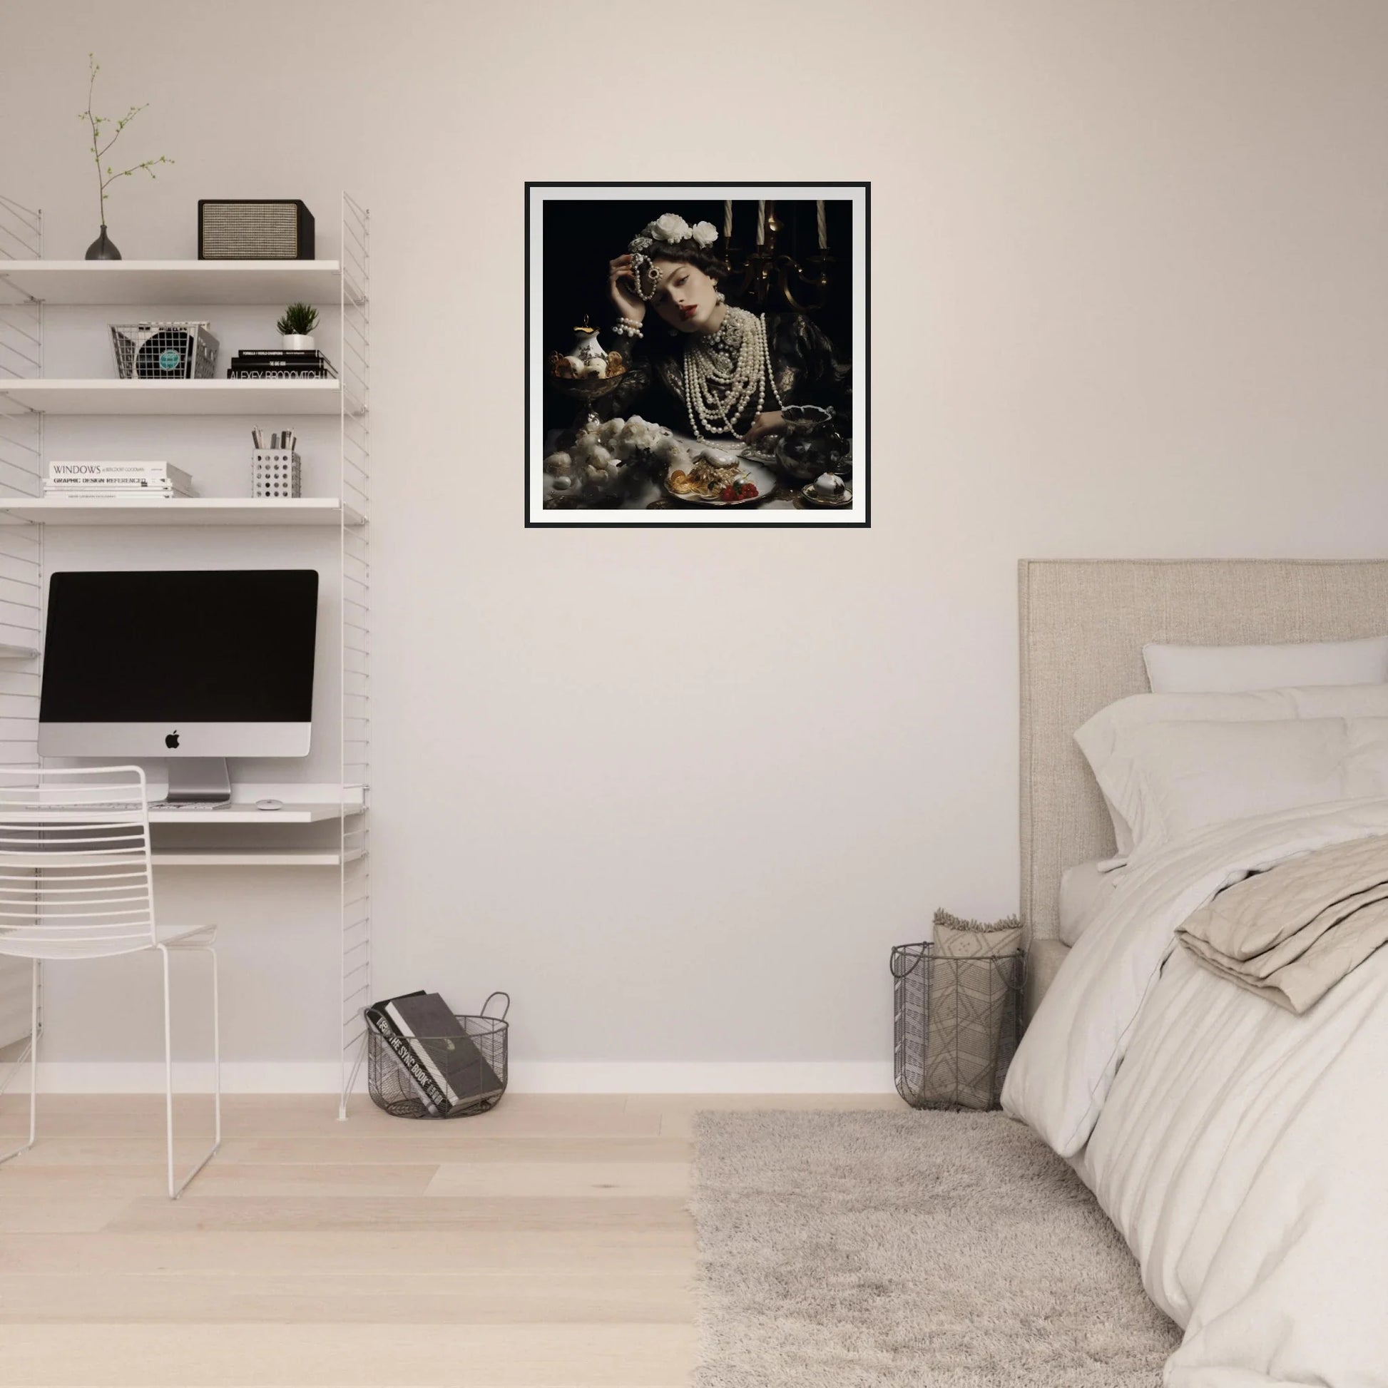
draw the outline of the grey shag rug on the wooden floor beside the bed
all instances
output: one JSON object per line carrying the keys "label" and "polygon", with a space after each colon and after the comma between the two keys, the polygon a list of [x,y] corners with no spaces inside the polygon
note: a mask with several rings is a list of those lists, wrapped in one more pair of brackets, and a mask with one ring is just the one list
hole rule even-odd
{"label": "grey shag rug on the wooden floor beside the bed", "polygon": [[1156,1388],[1181,1334],[1001,1113],[705,1112],[698,1388]]}

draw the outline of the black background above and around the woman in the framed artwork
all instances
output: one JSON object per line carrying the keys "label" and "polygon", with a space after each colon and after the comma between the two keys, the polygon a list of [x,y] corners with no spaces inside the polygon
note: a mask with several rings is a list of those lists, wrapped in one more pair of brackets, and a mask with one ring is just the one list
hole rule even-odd
{"label": "black background above and around the woman in the framed artwork", "polygon": [[[712,250],[723,250],[723,200],[680,198],[675,203],[663,200],[607,201],[582,198],[545,201],[544,217],[544,303],[541,321],[544,341],[541,359],[551,350],[566,353],[573,346],[573,328],[582,323],[584,315],[600,329],[598,340],[609,351],[620,346],[611,328],[616,321],[616,310],[608,297],[608,261],[626,251],[627,243],[647,222],[655,221],[663,212],[677,212],[693,226],[695,222],[712,222],[718,228],[718,240]],[[777,254],[790,254],[797,261],[812,255],[819,248],[815,230],[813,201],[776,200],[776,214],[781,221],[776,242]],[[851,359],[852,348],[852,203],[847,198],[824,200],[824,221],[829,232],[829,254],[834,257],[830,268],[833,276],[829,300],[811,318],[829,335],[843,361]],[[733,203],[733,248],[745,253],[756,242],[756,200]],[[529,247],[526,250],[529,255]],[[736,279],[736,275],[734,275]],[[529,266],[527,266],[529,282]],[[795,290],[791,280],[791,290]],[[729,303],[738,303],[730,293]],[[754,311],[784,311],[790,305],[777,290],[772,290],[766,303],[744,303],[741,307]],[[607,332],[601,332],[607,329]],[[532,343],[532,355],[536,344]],[[547,428],[566,425],[573,416],[573,401],[552,389],[545,389],[544,421]]]}

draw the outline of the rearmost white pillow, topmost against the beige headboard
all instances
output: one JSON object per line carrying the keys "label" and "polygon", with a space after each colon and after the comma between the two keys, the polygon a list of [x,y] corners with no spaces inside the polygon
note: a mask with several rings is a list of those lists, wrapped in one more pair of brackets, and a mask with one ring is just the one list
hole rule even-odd
{"label": "rearmost white pillow, topmost against the beige headboard", "polygon": [[1388,636],[1288,645],[1142,647],[1153,694],[1276,690],[1292,684],[1388,682]]}

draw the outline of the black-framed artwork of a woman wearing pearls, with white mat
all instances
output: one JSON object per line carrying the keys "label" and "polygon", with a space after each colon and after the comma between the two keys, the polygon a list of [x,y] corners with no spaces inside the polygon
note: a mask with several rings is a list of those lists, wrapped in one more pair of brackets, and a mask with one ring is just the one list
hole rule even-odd
{"label": "black-framed artwork of a woman wearing pearls, with white mat", "polygon": [[869,525],[869,193],[526,183],[526,525]]}

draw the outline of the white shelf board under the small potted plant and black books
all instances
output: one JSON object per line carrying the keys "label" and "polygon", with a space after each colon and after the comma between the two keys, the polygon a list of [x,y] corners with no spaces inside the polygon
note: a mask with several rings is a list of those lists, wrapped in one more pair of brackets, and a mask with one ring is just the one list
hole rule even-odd
{"label": "white shelf board under the small potted plant and black books", "polygon": [[0,380],[0,400],[50,415],[336,415],[337,380]]}

